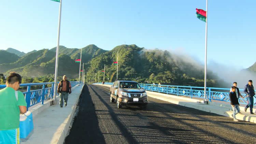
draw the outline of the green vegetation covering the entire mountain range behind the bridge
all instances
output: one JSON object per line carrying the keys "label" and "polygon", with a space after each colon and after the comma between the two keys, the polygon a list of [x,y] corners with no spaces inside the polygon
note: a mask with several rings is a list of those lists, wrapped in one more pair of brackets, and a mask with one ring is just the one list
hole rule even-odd
{"label": "green vegetation covering the entire mountain range behind the bridge", "polygon": [[[130,79],[138,83],[169,83],[171,85],[204,86],[204,68],[188,57],[177,56],[168,51],[146,50],[137,45],[119,45],[111,51],[105,51],[96,45],[82,48],[82,63],[84,63],[85,79],[87,82],[96,75],[96,82],[103,81],[101,71],[105,67],[105,82],[109,82],[114,72],[113,81],[116,79],[116,68],[113,62],[118,56],[118,79]],[[0,51],[0,55],[8,53]],[[72,81],[78,80],[81,49],[60,46],[58,81],[67,75]],[[8,53],[10,54],[10,53]],[[15,71],[22,75],[23,83],[53,82],[55,73],[56,47],[32,51],[16,61],[0,63],[0,73],[9,75]],[[82,67],[82,66],[81,66]],[[256,63],[248,68],[255,71]],[[81,68],[82,70],[82,68]],[[82,74],[82,73],[81,73]],[[211,71],[207,73],[208,87],[225,87],[227,84],[219,80]],[[75,80],[74,80],[75,79]],[[0,83],[5,81],[0,76]]]}

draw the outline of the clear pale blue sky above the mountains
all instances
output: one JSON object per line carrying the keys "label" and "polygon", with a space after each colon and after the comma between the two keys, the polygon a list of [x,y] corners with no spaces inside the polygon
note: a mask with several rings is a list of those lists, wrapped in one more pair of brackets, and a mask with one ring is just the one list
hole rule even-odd
{"label": "clear pale blue sky above the mountains", "polygon": [[[59,3],[0,0],[0,49],[22,52],[57,45]],[[256,61],[256,1],[208,1],[208,63],[237,69]],[[111,50],[136,44],[190,55],[204,63],[206,0],[62,0],[60,45]]]}

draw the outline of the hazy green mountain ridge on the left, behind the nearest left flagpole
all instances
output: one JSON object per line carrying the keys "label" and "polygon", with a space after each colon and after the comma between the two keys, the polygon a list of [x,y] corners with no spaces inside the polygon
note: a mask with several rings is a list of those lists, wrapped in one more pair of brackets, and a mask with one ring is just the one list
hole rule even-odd
{"label": "hazy green mountain ridge on the left, behind the nearest left flagpole", "polygon": [[[74,60],[80,59],[80,52],[81,49],[60,46],[58,75],[69,74],[69,78],[78,77],[80,63],[75,63]],[[106,51],[98,48],[95,45],[88,45],[82,48],[82,62],[86,63],[84,68],[87,69],[87,63],[91,60],[91,58],[104,52]],[[55,61],[56,47],[50,50],[34,50],[25,54],[23,57],[16,59],[15,62],[12,61],[12,63],[0,64],[0,73],[8,75],[9,72],[15,71],[28,77],[54,75]]]}

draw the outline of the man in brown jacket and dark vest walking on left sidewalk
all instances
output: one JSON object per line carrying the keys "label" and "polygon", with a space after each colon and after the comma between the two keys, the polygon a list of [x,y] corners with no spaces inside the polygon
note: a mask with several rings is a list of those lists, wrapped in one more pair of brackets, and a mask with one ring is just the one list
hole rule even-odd
{"label": "man in brown jacket and dark vest walking on left sidewalk", "polygon": [[60,107],[63,107],[63,99],[64,99],[64,102],[65,102],[65,106],[67,106],[68,96],[71,93],[71,84],[67,80],[66,75],[64,75],[63,80],[59,82],[57,92],[60,93],[60,99],[59,99]]}

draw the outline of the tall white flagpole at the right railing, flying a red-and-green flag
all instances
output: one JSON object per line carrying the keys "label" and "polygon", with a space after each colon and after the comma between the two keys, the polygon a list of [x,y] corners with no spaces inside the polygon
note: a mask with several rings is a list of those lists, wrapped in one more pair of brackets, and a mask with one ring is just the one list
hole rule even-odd
{"label": "tall white flagpole at the right railing, flying a red-and-green flag", "polygon": [[205,58],[204,58],[204,101],[206,100],[206,71],[207,71],[207,20],[208,20],[208,0],[206,0],[206,24],[205,24]]}

